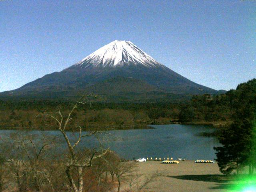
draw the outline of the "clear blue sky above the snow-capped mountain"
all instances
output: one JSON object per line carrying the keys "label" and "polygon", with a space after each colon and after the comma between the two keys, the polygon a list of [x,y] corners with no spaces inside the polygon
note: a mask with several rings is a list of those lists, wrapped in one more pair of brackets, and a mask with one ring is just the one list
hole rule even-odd
{"label": "clear blue sky above the snow-capped mountain", "polygon": [[113,40],[214,89],[256,78],[254,0],[0,0],[0,92]]}

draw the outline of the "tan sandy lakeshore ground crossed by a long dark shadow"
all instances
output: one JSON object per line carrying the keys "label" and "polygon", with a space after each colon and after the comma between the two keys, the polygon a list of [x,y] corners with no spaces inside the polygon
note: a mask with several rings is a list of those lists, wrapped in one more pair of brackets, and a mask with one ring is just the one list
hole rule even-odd
{"label": "tan sandy lakeshore ground crossed by a long dark shadow", "polygon": [[[228,192],[228,183],[220,173],[218,164],[197,164],[181,161],[179,164],[162,164],[161,161],[136,163],[138,172],[150,174],[156,170],[164,172],[150,185],[148,192]],[[151,188],[153,187],[153,188]]]}

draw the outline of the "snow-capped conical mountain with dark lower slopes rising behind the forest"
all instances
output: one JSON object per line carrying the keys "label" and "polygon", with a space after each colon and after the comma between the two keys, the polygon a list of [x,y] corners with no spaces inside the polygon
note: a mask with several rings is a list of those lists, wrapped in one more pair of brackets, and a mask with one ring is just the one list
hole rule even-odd
{"label": "snow-capped conical mountain with dark lower slopes rising behind the forest", "polygon": [[116,40],[61,72],[47,74],[0,96],[71,98],[89,93],[110,100],[156,100],[219,92],[172,71],[132,42]]}

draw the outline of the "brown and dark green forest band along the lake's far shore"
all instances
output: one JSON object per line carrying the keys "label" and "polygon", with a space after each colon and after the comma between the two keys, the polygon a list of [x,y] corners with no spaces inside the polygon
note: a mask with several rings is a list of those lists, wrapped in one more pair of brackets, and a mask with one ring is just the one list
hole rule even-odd
{"label": "brown and dark green forest band along the lake's far shore", "polygon": [[[80,121],[83,130],[97,128],[146,128],[147,124],[230,122],[232,109],[228,94],[192,96],[186,103],[108,103],[92,102],[77,109],[73,119]],[[52,129],[53,124],[42,122],[36,114],[54,111],[58,107],[67,113],[72,107],[68,101],[1,101],[0,128],[2,129]]]}

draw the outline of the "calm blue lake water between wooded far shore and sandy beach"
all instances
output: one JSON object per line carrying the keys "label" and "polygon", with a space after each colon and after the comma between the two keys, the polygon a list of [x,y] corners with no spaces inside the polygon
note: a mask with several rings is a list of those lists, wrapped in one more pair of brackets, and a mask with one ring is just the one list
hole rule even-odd
{"label": "calm blue lake water between wooded far shore and sandy beach", "polygon": [[[153,129],[136,130],[113,130],[109,131],[108,141],[105,145],[110,146],[117,154],[126,159],[145,158],[167,158],[181,157],[188,160],[216,158],[214,146],[220,146],[214,137],[200,136],[201,133],[214,132],[211,126],[203,125],[150,125]],[[4,136],[14,130],[0,130]],[[46,134],[61,136],[58,131],[29,131],[26,134]],[[69,133],[75,138],[77,133]],[[75,141],[75,139],[73,140]],[[93,147],[98,144],[94,137],[83,138],[80,147]],[[60,148],[65,148],[64,140],[59,142]]]}

